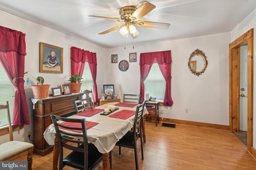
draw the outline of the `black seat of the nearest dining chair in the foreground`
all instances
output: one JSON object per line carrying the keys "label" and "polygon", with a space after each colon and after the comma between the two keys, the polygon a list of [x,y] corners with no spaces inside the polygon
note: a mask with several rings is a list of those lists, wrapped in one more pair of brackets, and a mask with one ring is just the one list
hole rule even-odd
{"label": "black seat of the nearest dining chair in the foreground", "polygon": [[[79,148],[84,148],[84,145],[80,145]],[[88,144],[88,170],[96,166],[102,161],[102,153],[92,145]],[[71,152],[66,158],[63,159],[63,164],[71,166],[77,169],[83,169],[84,166],[84,153],[83,152]]]}

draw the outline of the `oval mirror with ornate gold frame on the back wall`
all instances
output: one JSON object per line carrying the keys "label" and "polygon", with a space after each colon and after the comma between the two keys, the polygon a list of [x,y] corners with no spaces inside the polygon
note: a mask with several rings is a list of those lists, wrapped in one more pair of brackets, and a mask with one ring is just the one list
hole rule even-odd
{"label": "oval mirror with ornate gold frame on the back wall", "polygon": [[201,75],[206,70],[207,65],[208,61],[201,50],[196,49],[191,53],[188,60],[188,68],[193,74],[197,76]]}

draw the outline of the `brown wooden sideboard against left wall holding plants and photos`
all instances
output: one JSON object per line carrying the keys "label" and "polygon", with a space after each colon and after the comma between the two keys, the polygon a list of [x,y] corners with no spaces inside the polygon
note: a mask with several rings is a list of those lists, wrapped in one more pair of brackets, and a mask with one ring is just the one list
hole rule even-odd
{"label": "brown wooden sideboard against left wall holding plants and photos", "polygon": [[53,150],[44,139],[45,129],[52,124],[50,115],[72,115],[76,113],[74,101],[82,99],[84,93],[40,99],[33,109],[34,153],[42,156]]}

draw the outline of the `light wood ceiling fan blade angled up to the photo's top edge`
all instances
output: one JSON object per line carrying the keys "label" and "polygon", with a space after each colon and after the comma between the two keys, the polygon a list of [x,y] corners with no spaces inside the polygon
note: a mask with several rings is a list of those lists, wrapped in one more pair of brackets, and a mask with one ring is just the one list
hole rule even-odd
{"label": "light wood ceiling fan blade angled up to the photo's top edge", "polygon": [[138,21],[140,18],[144,17],[146,14],[148,14],[150,11],[152,11],[156,6],[153,4],[150,4],[147,1],[144,1],[134,13],[129,17],[132,21]]}

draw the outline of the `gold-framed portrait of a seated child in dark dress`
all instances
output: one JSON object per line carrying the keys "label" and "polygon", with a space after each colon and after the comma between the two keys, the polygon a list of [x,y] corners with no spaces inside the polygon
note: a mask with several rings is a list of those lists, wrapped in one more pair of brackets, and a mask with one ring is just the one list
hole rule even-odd
{"label": "gold-framed portrait of a seated child in dark dress", "polygon": [[40,72],[63,73],[63,48],[40,42]]}

